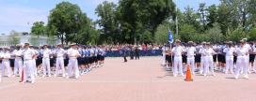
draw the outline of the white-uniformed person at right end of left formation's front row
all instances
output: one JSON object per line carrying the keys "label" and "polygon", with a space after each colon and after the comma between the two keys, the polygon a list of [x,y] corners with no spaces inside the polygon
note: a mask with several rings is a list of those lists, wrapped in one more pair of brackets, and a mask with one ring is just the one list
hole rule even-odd
{"label": "white-uniformed person at right end of left formation's front row", "polygon": [[79,52],[77,51],[76,45],[72,44],[71,49],[67,51],[69,56],[69,65],[68,65],[68,76],[66,79],[69,79],[74,74],[75,79],[79,78],[79,69],[78,69],[78,62],[77,57],[80,56]]}

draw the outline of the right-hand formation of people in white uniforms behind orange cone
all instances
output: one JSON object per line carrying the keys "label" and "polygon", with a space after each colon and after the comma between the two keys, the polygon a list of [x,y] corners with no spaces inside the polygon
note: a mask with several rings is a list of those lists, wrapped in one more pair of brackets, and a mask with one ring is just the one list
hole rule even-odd
{"label": "right-hand formation of people in white uniforms behind orange cone", "polygon": [[[232,73],[234,79],[241,74],[248,79],[248,74],[256,73],[256,42],[247,42],[247,38],[240,40],[239,44],[232,41],[222,44],[202,42],[196,44],[189,41],[185,46],[181,40],[175,40],[175,45],[162,48],[163,64],[172,70],[173,76],[184,76],[185,65],[190,65],[191,74],[216,76],[215,70],[226,74]],[[173,66],[170,68],[170,66]]]}

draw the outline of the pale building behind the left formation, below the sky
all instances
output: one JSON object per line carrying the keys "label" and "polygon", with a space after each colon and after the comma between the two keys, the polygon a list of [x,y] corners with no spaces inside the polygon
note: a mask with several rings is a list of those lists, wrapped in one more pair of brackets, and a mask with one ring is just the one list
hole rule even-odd
{"label": "pale building behind the left formation, below the sky", "polygon": [[56,37],[47,37],[47,36],[33,36],[29,35],[27,33],[16,33],[16,34],[10,34],[0,35],[0,47],[9,47],[14,46],[17,44],[24,44],[24,43],[30,43],[34,46],[40,46],[40,45],[56,45],[60,43],[60,40]]}

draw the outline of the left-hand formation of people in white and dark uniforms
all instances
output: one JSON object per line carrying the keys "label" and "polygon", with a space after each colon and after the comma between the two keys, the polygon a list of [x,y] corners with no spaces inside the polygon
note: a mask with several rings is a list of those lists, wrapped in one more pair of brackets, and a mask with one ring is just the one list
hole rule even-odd
{"label": "left-hand formation of people in white and dark uniforms", "polygon": [[54,75],[78,79],[92,68],[103,66],[104,54],[104,48],[101,46],[72,44],[69,49],[63,49],[62,45],[49,49],[48,45],[37,48],[25,43],[24,46],[15,46],[12,51],[8,48],[0,49],[0,76],[10,78],[24,75],[23,82],[31,83],[34,83],[38,76],[44,78]]}

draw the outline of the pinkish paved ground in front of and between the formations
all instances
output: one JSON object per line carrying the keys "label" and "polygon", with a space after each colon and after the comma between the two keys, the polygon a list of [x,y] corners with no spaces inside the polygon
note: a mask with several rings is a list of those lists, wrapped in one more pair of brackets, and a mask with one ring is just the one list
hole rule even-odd
{"label": "pinkish paved ground in front of and between the formations", "polygon": [[159,65],[160,57],[121,63],[107,58],[80,79],[38,78],[22,84],[17,78],[0,83],[0,101],[256,101],[256,74],[249,79],[216,77],[173,78]]}

